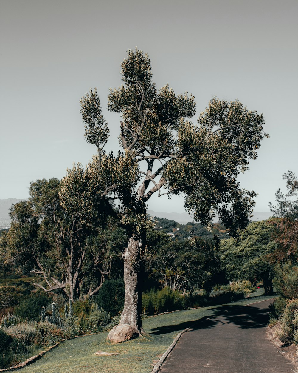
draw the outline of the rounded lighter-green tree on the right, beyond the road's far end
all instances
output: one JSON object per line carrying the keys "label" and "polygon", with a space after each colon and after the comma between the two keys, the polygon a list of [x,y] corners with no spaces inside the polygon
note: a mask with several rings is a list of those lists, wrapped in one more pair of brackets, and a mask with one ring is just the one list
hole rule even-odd
{"label": "rounded lighter-green tree on the right, beyond the road's far end", "polygon": [[220,260],[228,280],[262,280],[265,294],[273,294],[274,265],[270,255],[276,250],[273,227],[262,220],[248,225],[240,236],[221,240]]}

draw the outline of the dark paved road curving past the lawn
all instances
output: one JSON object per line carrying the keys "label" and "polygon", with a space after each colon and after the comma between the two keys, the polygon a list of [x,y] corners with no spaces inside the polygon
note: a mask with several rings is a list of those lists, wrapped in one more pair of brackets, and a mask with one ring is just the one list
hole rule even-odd
{"label": "dark paved road curving past the lawn", "polygon": [[295,365],[267,339],[271,301],[216,309],[184,333],[161,373],[292,373]]}

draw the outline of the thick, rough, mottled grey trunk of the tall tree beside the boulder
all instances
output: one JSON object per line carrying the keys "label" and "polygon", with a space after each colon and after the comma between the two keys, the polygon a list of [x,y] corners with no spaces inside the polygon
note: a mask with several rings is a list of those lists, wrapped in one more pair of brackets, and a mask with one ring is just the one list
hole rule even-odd
{"label": "thick, rough, mottled grey trunk of the tall tree beside the boulder", "polygon": [[140,237],[133,234],[123,253],[124,260],[124,308],[120,324],[129,324],[134,333],[141,334],[142,327],[142,278],[140,276]]}

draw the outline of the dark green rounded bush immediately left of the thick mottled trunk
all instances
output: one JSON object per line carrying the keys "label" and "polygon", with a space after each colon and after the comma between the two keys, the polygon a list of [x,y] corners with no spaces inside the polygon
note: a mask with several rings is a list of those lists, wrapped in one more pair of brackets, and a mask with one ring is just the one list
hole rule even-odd
{"label": "dark green rounded bush immediately left of the thick mottled trunk", "polygon": [[93,301],[99,308],[110,312],[111,315],[116,315],[121,312],[124,307],[124,281],[118,280],[105,280],[98,291],[98,295],[93,297]]}

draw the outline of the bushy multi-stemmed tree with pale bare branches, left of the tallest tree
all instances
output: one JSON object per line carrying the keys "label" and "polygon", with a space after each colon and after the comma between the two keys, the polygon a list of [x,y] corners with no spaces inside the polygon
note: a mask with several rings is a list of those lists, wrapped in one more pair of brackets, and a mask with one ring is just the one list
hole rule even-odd
{"label": "bushy multi-stemmed tree with pale bare branches, left of the tallest tree", "polygon": [[62,181],[32,182],[29,200],[10,210],[11,228],[1,240],[6,261],[41,276],[35,286],[72,301],[99,290],[126,240],[113,218],[101,222],[90,190],[79,164]]}

